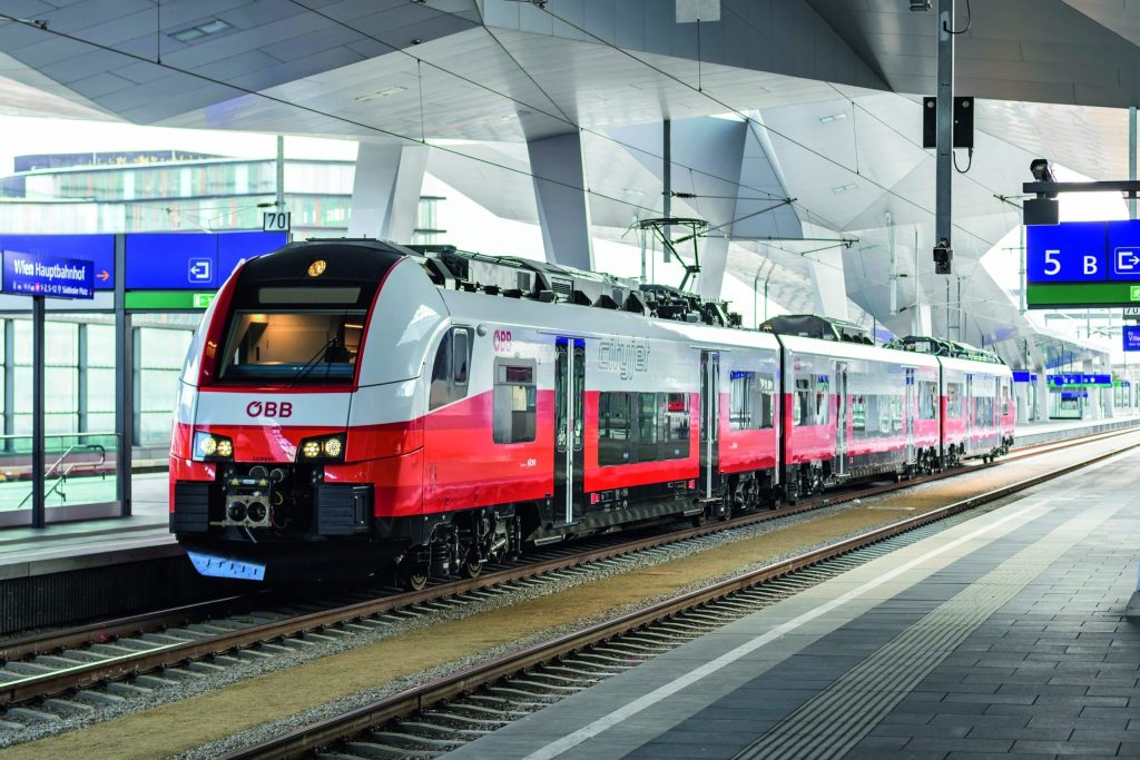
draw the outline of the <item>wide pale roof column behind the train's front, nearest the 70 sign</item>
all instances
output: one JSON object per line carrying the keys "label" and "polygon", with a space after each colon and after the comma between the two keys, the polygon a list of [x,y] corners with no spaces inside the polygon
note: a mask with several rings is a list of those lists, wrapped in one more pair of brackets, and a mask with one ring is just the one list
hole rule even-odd
{"label": "wide pale roof column behind the train's front, nearest the 70 sign", "polygon": [[349,237],[410,243],[427,167],[426,146],[360,142]]}

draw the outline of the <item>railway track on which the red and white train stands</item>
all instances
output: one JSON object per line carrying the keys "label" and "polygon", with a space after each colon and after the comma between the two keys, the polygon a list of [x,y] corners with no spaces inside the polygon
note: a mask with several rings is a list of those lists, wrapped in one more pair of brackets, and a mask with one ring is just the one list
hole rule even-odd
{"label": "railway track on which the red and white train stands", "polygon": [[[1126,435],[1114,431],[1065,442],[1016,450],[1003,461]],[[596,563],[620,563],[636,553],[665,545],[700,541],[727,529],[865,499],[917,484],[978,472],[996,464],[972,465],[903,483],[874,484],[833,492],[795,506],[734,520],[669,531],[652,531],[635,540],[612,537],[567,545],[532,555],[526,562],[488,569],[477,579],[430,586],[420,591],[378,589],[340,604],[286,604],[282,597],[229,597],[173,610],[81,626],[64,631],[0,641],[0,727],[18,728],[54,716],[81,713],[92,704],[123,700],[150,689],[193,680],[242,659],[303,651],[315,640],[351,637],[382,629],[408,615],[438,613],[439,605],[462,605],[502,593],[503,588],[544,582],[559,573]],[[92,690],[98,687],[98,690]]]}

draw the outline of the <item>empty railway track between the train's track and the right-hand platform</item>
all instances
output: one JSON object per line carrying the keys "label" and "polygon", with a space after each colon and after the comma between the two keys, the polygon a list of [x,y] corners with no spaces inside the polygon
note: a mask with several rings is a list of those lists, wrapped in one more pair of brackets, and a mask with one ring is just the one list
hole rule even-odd
{"label": "empty railway track between the train's track and the right-hand platform", "polygon": [[343,760],[442,754],[641,661],[938,532],[943,526],[936,523],[1118,453],[1104,453],[771,563],[219,757],[261,760],[317,752],[318,757]]}

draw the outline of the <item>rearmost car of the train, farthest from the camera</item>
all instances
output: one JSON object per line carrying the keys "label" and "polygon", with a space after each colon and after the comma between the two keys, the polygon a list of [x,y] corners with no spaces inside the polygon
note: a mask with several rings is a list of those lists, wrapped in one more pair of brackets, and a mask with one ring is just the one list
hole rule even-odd
{"label": "rearmost car of the train, farthest from the camera", "polygon": [[1013,374],[994,353],[931,337],[906,336],[901,348],[936,356],[942,366],[942,464],[991,460],[1013,446]]}

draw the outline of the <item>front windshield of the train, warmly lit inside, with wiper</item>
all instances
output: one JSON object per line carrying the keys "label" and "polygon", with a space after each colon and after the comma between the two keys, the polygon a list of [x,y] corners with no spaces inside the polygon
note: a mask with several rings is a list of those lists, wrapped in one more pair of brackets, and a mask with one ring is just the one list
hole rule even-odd
{"label": "front windshield of the train, warmly lit inside, with wiper", "polygon": [[237,311],[221,379],[350,382],[365,311]]}

